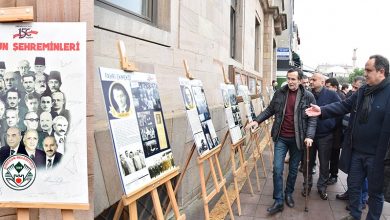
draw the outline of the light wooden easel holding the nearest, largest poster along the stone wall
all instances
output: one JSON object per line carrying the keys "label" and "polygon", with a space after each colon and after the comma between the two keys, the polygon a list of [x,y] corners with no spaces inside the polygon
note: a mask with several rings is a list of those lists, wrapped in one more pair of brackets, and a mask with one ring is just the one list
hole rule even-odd
{"label": "light wooden easel holding the nearest, largest poster along the stone wall", "polygon": [[[123,41],[119,40],[118,41],[118,50],[119,50],[119,55],[120,55],[120,64],[121,68],[124,71],[127,72],[134,72],[137,71],[138,69],[136,68],[135,64],[128,61],[126,57],[126,48],[123,43]],[[185,215],[180,215],[179,212],[179,207],[177,205],[175,193],[173,191],[172,183],[171,180],[176,177],[179,174],[179,167],[175,167],[172,170],[164,173],[160,177],[157,177],[154,179],[151,183],[149,183],[148,186],[143,187],[132,194],[129,195],[124,195],[122,196],[122,199],[119,201],[117,209],[115,211],[114,219],[118,220],[123,208],[125,206],[129,207],[129,218],[130,220],[137,220],[138,219],[138,213],[137,213],[137,200],[141,198],[142,196],[150,193],[152,200],[153,200],[153,207],[156,212],[156,218],[157,220],[163,220],[164,219],[164,214],[162,211],[161,207],[161,202],[160,198],[158,196],[157,188],[161,185],[165,185],[167,188],[167,194],[168,197],[171,201],[172,207],[173,207],[173,212],[176,217],[176,219],[179,220],[185,220]]]}

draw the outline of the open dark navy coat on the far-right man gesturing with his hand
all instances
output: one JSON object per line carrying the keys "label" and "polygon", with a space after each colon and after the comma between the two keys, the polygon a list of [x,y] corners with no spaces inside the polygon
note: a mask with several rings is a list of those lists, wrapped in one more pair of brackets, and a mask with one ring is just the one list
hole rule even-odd
{"label": "open dark navy coat on the far-right man gesturing with his hand", "polygon": [[[342,116],[347,113],[351,113],[348,128],[345,133],[345,138],[343,142],[343,152],[342,157],[339,161],[339,168],[344,172],[349,172],[351,164],[351,154],[352,154],[352,134],[355,126],[358,126],[358,118],[356,117],[356,112],[360,110],[363,104],[363,94],[365,86],[362,86],[358,91],[353,95],[341,102],[332,103],[326,106],[321,107],[322,118],[330,118]],[[384,88],[381,92],[385,92],[390,98],[390,86]],[[389,100],[389,99],[387,99]],[[374,164],[373,164],[373,180],[370,182],[370,188],[376,191],[382,191],[383,189],[383,174],[384,174],[384,158],[386,155],[387,149],[390,147],[390,101],[387,101],[386,104],[386,115],[384,117],[381,131],[378,134],[378,145],[376,149]]]}

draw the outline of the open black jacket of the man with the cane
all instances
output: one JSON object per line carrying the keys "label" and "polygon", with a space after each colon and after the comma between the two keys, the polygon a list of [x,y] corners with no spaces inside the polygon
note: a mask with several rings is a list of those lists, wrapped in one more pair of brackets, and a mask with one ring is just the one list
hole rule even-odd
{"label": "open black jacket of the man with the cane", "polygon": [[[275,115],[275,122],[271,131],[271,136],[274,142],[277,141],[282,127],[287,96],[288,85],[285,85],[275,92],[269,106],[255,119],[255,121],[261,123],[272,115]],[[311,103],[316,104],[313,94],[304,89],[302,85],[299,85],[294,108],[294,130],[295,141],[298,149],[300,150],[304,149],[305,138],[314,139],[316,133],[317,117],[308,117],[305,113],[305,109],[310,107]]]}

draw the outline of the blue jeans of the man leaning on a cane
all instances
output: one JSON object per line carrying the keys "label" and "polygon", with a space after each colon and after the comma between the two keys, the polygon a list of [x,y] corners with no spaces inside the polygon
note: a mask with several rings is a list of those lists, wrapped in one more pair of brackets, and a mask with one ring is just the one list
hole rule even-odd
{"label": "blue jeans of the man leaning on a cane", "polygon": [[301,160],[302,151],[298,150],[295,137],[283,138],[279,137],[274,147],[274,167],[273,167],[273,181],[274,181],[274,193],[273,198],[277,203],[283,203],[283,169],[284,159],[287,151],[290,154],[289,171],[286,182],[286,189],[284,193],[291,195],[294,192],[295,181],[298,175],[298,165]]}

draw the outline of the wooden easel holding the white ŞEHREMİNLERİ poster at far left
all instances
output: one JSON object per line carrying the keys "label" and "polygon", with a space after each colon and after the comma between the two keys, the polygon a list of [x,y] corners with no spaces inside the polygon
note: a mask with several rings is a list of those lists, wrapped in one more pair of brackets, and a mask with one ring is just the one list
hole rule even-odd
{"label": "wooden easel holding the white \u015eEHREM\u0130NLER\u0130 poster at far left", "polygon": [[[20,6],[0,8],[0,23],[7,22],[32,22],[34,21],[34,7]],[[55,204],[55,203],[22,203],[9,202],[0,203],[2,208],[16,208],[16,216],[18,220],[29,220],[30,209],[48,208],[61,209],[62,219],[74,220],[73,209],[88,210],[89,204]]]}

